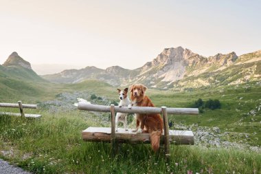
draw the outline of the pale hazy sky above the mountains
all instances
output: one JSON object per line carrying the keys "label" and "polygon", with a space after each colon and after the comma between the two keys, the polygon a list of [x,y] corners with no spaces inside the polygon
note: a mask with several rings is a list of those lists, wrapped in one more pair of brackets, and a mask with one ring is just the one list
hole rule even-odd
{"label": "pale hazy sky above the mountains", "polygon": [[261,1],[0,0],[0,64],[141,67],[166,47],[261,50]]}

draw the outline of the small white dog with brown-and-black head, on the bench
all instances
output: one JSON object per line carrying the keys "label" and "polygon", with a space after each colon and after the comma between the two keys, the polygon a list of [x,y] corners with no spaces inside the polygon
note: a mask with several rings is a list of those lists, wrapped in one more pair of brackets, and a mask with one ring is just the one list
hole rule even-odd
{"label": "small white dog with brown-and-black head, on the bench", "polygon": [[[119,107],[127,107],[131,104],[131,100],[128,98],[128,88],[125,88],[123,91],[121,89],[117,89],[120,95],[120,104]],[[124,129],[128,131],[127,128],[127,116],[128,113],[120,113],[117,112],[116,118],[115,118],[115,124],[116,124],[116,131],[118,131],[118,122],[123,122]]]}

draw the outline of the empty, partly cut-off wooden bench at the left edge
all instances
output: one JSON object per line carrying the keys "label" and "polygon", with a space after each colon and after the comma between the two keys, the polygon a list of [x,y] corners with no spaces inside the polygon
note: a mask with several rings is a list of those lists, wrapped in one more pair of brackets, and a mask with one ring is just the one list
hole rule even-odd
{"label": "empty, partly cut-off wooden bench at the left edge", "polygon": [[22,118],[41,118],[41,115],[39,114],[24,113],[23,111],[24,108],[36,109],[37,105],[22,104],[21,101],[18,101],[18,104],[0,102],[0,107],[16,107],[20,109],[20,113],[10,113],[10,112],[0,111],[0,115],[21,116]]}

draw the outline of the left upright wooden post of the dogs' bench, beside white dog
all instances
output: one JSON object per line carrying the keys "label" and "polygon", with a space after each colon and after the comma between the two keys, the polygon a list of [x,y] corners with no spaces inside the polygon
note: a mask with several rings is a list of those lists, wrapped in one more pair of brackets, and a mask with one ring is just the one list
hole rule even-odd
{"label": "left upright wooden post of the dogs' bench, beside white dog", "polygon": [[111,105],[111,154],[114,156],[116,152],[115,142],[115,107]]}

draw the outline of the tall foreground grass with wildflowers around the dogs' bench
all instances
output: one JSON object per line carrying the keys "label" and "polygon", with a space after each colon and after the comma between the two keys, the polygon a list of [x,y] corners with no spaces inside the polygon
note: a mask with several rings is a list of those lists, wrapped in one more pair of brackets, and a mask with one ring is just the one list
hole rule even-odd
{"label": "tall foreground grass with wildflowers around the dogs' bench", "polygon": [[[41,120],[1,116],[2,155],[34,173],[260,173],[261,155],[236,149],[171,146],[171,160],[155,155],[148,144],[122,144],[115,157],[110,145],[83,142],[81,131],[98,122],[80,111],[50,115]],[[161,148],[162,149],[162,148]]]}

